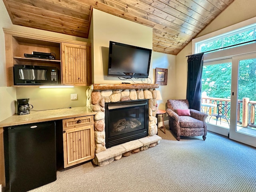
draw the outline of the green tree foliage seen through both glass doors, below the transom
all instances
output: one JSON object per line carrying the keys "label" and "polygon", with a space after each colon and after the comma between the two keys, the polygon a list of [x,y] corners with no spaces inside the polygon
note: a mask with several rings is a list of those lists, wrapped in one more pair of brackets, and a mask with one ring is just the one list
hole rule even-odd
{"label": "green tree foliage seen through both glass doors, below the transom", "polygon": [[[203,67],[202,92],[208,97],[230,98],[231,63]],[[256,101],[256,59],[242,60],[239,63],[238,99],[248,97]]]}

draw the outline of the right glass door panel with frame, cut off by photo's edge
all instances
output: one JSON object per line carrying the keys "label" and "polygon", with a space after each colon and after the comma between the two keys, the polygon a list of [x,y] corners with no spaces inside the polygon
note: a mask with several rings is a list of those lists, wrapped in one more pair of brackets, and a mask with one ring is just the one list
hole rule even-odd
{"label": "right glass door panel with frame, cut off by photo's edge", "polygon": [[235,57],[233,65],[230,138],[256,146],[256,54]]}

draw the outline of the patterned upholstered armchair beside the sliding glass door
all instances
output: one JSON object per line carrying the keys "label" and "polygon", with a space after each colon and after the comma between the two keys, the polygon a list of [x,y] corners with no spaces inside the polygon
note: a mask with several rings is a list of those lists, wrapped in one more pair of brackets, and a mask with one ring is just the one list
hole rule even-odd
{"label": "patterned upholstered armchair beside the sliding glass door", "polygon": [[207,114],[189,109],[188,100],[167,100],[166,113],[170,130],[176,134],[178,141],[180,136],[203,136],[203,140],[206,140]]}

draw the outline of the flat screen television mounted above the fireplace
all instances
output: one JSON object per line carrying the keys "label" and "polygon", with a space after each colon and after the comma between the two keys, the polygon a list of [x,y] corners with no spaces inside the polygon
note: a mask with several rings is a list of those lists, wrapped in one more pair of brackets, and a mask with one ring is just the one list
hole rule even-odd
{"label": "flat screen television mounted above the fireplace", "polygon": [[108,76],[148,78],[152,50],[109,42]]}

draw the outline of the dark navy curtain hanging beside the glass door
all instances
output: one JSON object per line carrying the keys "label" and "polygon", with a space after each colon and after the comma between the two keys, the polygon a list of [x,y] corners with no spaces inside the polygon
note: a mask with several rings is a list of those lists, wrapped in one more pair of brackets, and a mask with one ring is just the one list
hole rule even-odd
{"label": "dark navy curtain hanging beside the glass door", "polygon": [[201,109],[203,55],[198,53],[188,56],[187,100],[190,108],[198,111]]}

